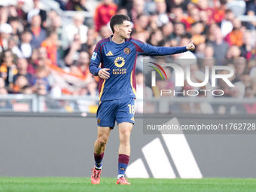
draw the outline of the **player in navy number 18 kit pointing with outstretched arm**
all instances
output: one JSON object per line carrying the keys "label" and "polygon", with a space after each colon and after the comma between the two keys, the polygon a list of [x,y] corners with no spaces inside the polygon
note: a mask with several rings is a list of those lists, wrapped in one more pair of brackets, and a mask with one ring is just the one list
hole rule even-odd
{"label": "player in navy number 18 kit pointing with outstretched arm", "polygon": [[[130,159],[130,133],[134,124],[136,99],[136,58],[138,55],[163,56],[194,50],[193,41],[186,47],[154,47],[131,38],[130,17],[115,14],[110,20],[114,35],[103,38],[90,59],[90,72],[99,75],[98,138],[94,144],[95,166],[92,184],[99,184],[102,159],[110,131],[117,121],[119,129],[119,158],[116,184],[130,184],[124,178]],[[99,64],[101,63],[101,68]]]}

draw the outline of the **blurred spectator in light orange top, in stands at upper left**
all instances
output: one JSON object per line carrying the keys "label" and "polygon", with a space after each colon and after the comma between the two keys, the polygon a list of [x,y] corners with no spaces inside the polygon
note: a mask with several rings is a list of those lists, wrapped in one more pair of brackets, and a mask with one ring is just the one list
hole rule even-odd
{"label": "blurred spectator in light orange top, in stands at upper left", "polygon": [[41,47],[45,47],[47,57],[51,60],[54,66],[58,65],[58,52],[57,52],[58,34],[53,30],[47,31],[47,38],[41,43]]}

